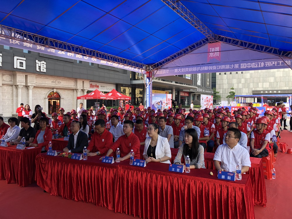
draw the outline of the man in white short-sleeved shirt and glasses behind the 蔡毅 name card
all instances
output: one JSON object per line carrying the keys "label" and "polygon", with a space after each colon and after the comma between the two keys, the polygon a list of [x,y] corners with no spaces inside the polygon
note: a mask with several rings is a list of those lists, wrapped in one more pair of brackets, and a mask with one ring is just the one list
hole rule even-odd
{"label": "man in white short-sleeved shirt and glasses behind the \u8521\u6bc5 name card", "polygon": [[[241,173],[245,173],[251,167],[248,151],[238,144],[241,132],[237,128],[228,128],[225,144],[219,145],[215,152],[214,164],[217,171],[236,172],[238,162],[241,162]],[[221,162],[221,166],[220,166]]]}

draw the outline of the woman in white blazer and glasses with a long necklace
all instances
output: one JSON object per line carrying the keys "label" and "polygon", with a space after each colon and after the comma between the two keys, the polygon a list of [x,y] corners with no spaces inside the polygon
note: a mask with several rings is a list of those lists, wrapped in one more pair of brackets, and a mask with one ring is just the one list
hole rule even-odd
{"label": "woman in white blazer and glasses with a long necklace", "polygon": [[146,162],[161,162],[170,164],[171,151],[167,138],[159,134],[159,126],[155,123],[148,125],[147,133],[149,135],[145,140],[143,158]]}

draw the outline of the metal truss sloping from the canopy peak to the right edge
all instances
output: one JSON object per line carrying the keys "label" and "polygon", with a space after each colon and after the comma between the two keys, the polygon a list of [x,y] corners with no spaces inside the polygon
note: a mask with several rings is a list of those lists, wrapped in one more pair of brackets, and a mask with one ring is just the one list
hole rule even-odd
{"label": "metal truss sloping from the canopy peak to the right edge", "polygon": [[264,46],[264,45],[260,45],[260,44],[256,44],[256,43],[250,43],[247,41],[234,39],[234,38],[230,38],[227,36],[217,35],[216,41],[227,43],[227,44],[234,45],[234,46],[239,46],[241,48],[251,49],[254,51],[258,51],[258,52],[277,55],[279,57],[292,58],[292,51],[282,51],[282,50],[279,50],[278,48],[274,48],[271,46]]}

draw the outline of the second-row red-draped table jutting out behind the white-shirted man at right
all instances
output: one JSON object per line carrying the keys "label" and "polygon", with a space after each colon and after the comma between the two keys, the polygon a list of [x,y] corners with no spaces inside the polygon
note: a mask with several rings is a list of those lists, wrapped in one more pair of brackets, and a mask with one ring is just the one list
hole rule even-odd
{"label": "second-row red-draped table jutting out behind the white-shirted man at right", "polygon": [[[178,148],[171,148],[171,159],[170,162],[173,164],[173,161],[178,153]],[[143,158],[144,146],[140,147],[140,159]],[[215,170],[214,166],[214,153],[204,152],[204,161],[205,167],[207,169]],[[251,177],[251,184],[253,186],[254,194],[254,203],[255,205],[260,205],[265,207],[267,203],[267,194],[266,194],[266,184],[264,177],[264,170],[262,159],[250,157],[251,168],[249,168],[248,174]]]}

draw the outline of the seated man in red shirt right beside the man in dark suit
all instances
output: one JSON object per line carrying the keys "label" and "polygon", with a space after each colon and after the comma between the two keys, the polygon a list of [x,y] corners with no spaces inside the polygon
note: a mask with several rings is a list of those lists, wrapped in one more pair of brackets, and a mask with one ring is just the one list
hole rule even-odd
{"label": "seated man in red shirt right beside the man in dark suit", "polygon": [[105,121],[98,119],[95,123],[95,132],[92,135],[90,143],[87,147],[87,155],[89,157],[95,155],[105,156],[109,146],[112,145],[112,133],[106,130]]}

